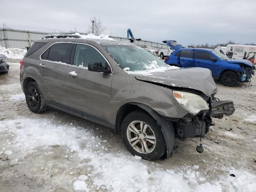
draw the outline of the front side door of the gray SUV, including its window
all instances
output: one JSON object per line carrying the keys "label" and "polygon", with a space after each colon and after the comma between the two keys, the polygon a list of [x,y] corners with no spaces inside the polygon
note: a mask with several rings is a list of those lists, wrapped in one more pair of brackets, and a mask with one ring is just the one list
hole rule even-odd
{"label": "front side door of the gray SUV, including its window", "polygon": [[75,46],[71,57],[73,62],[68,67],[68,106],[97,117],[99,121],[109,120],[112,74],[88,71],[88,65],[92,62],[101,62],[102,66],[110,65],[93,46]]}

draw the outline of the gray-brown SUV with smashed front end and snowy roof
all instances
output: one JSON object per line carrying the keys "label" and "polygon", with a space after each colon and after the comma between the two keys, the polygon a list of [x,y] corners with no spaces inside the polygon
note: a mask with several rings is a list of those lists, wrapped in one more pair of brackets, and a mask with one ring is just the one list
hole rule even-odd
{"label": "gray-brown SUV with smashed front end and snowy roof", "polygon": [[210,70],[175,68],[128,42],[46,36],[20,61],[20,84],[34,113],[48,106],[113,128],[147,160],[168,158],[175,137],[205,137],[212,118],[234,113],[215,98]]}

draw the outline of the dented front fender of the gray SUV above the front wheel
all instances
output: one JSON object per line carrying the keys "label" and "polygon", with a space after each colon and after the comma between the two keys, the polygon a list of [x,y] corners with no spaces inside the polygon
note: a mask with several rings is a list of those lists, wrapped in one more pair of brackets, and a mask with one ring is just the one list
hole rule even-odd
{"label": "dented front fender of the gray SUV above the front wheel", "polygon": [[[120,72],[121,73],[121,72]],[[115,124],[118,110],[128,103],[141,103],[161,116],[182,118],[188,111],[172,95],[172,90],[137,80],[134,76],[114,74],[112,80],[110,122]]]}

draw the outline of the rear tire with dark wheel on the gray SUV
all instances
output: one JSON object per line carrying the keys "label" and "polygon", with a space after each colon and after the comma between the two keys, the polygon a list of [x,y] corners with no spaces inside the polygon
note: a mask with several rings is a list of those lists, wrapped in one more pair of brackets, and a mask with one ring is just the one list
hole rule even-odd
{"label": "rear tire with dark wheel on the gray SUV", "polygon": [[34,113],[41,113],[48,108],[44,102],[44,97],[36,82],[30,82],[25,89],[26,103],[28,108]]}

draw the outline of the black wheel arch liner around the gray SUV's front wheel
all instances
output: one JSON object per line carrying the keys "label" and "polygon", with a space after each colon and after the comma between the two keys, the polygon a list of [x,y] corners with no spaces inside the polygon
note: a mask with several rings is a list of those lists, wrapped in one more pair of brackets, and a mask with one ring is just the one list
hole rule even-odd
{"label": "black wheel arch liner around the gray SUV's front wheel", "polygon": [[148,113],[150,116],[152,116],[152,118],[156,120],[158,126],[161,128],[161,131],[164,135],[164,140],[166,143],[166,154],[164,154],[163,158],[168,158],[171,155],[172,148],[174,145],[174,140],[175,140],[173,125],[171,122],[167,121],[166,118],[164,118],[164,116],[161,116],[149,106],[142,103],[137,103],[137,102],[130,102],[121,106],[116,116],[116,125],[115,125],[116,132],[121,131],[121,124],[125,116],[128,115],[130,112],[138,109],[141,109],[146,113]]}

